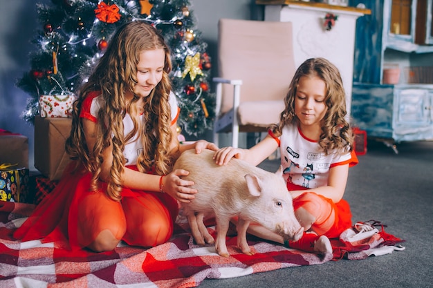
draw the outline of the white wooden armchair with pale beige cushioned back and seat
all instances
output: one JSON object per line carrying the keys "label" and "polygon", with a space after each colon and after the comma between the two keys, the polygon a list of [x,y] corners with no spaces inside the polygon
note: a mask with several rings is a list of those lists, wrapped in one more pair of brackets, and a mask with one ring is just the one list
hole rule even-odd
{"label": "white wooden armchair with pale beige cushioned back and seat", "polygon": [[295,74],[290,22],[220,19],[214,143],[218,133],[266,132],[279,122]]}

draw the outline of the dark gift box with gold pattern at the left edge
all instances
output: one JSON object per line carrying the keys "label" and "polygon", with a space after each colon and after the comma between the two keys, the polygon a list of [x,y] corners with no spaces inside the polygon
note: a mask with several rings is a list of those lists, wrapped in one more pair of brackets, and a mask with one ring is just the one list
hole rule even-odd
{"label": "dark gift box with gold pattern at the left edge", "polygon": [[27,168],[0,170],[0,200],[33,203],[29,193],[29,171]]}

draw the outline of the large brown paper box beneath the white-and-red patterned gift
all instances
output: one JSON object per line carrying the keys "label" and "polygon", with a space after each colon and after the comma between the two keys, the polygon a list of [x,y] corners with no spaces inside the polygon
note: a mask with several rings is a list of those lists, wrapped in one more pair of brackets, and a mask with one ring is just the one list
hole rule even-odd
{"label": "large brown paper box beneath the white-and-red patterned gift", "polygon": [[51,181],[59,180],[71,159],[64,150],[71,118],[35,117],[35,168]]}

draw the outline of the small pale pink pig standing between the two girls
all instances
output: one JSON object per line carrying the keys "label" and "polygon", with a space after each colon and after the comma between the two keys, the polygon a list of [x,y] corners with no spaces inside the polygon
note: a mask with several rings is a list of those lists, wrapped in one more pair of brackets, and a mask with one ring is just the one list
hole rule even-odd
{"label": "small pale pink pig standing between the two girls", "polygon": [[281,167],[277,173],[270,173],[236,158],[219,166],[213,155],[210,150],[199,154],[189,150],[174,164],[174,169],[190,172],[183,178],[194,181],[192,187],[198,191],[194,200],[182,204],[197,244],[214,242],[203,224],[205,215],[215,216],[215,249],[220,256],[229,256],[225,236],[234,216],[238,216],[237,246],[245,254],[253,254],[246,240],[250,222],[257,222],[285,239],[300,239],[304,229],[295,217]]}

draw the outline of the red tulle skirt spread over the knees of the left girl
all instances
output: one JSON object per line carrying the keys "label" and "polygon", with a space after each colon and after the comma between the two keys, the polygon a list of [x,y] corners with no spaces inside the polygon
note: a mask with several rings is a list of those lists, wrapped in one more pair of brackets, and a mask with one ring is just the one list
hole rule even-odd
{"label": "red tulle skirt spread over the knees of the left girl", "polygon": [[[129,168],[137,170],[135,166]],[[142,247],[162,244],[172,236],[178,203],[171,196],[124,187],[122,200],[117,202],[107,197],[107,184],[100,182],[97,191],[90,191],[90,182],[91,173],[82,166],[75,169],[75,162],[71,162],[62,180],[14,237],[22,241],[42,239],[75,250],[89,246],[105,229],[119,240]]]}

